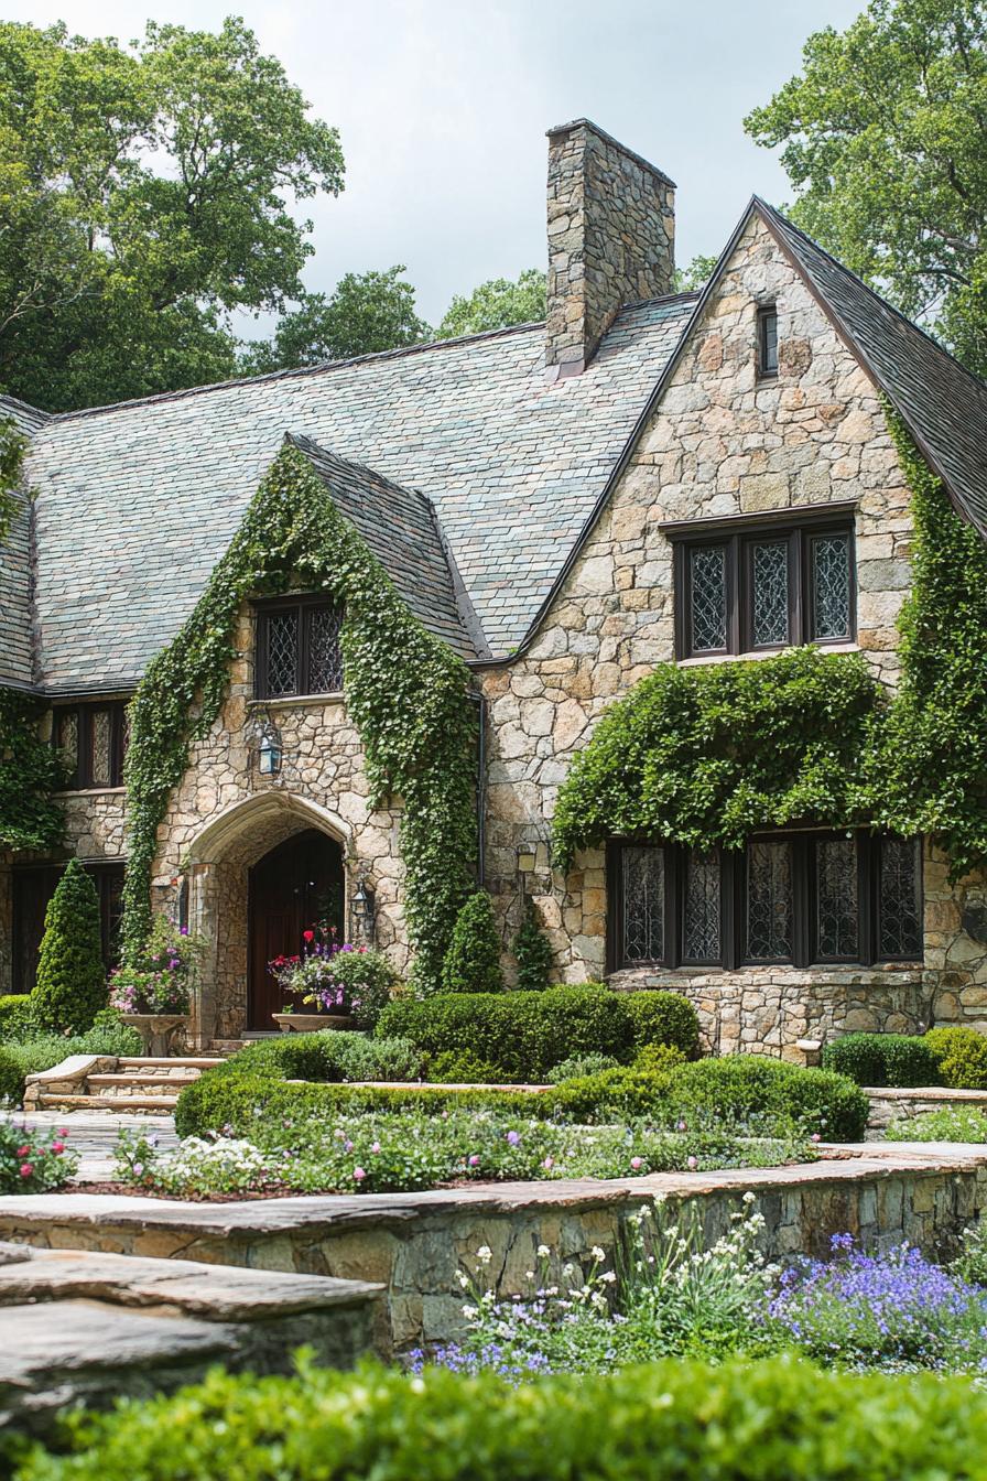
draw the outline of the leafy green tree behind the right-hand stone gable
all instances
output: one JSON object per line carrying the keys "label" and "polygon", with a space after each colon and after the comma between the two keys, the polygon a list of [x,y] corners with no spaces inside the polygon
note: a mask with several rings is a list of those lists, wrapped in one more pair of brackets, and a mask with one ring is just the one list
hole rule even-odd
{"label": "leafy green tree behind the right-hand stone gable", "polygon": [[809,36],[744,120],[799,191],[792,215],[987,372],[987,7],[872,0]]}

